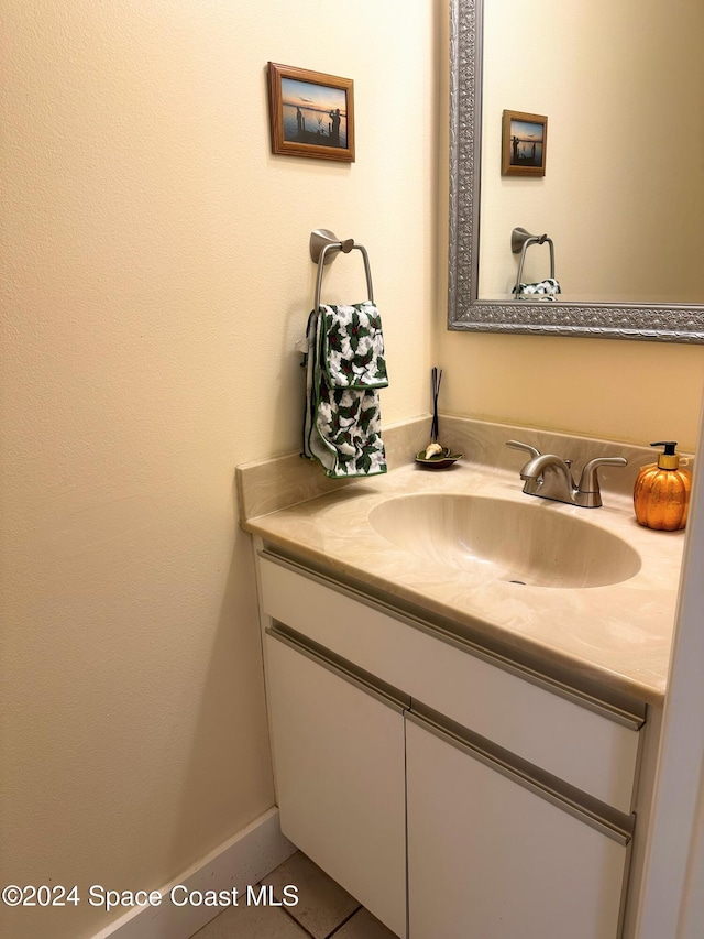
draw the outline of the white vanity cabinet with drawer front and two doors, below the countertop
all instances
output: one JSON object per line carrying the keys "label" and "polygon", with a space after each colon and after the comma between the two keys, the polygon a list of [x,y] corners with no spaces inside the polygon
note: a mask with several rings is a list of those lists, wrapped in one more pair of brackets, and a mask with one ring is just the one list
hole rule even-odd
{"label": "white vanity cabinet with drawer front and two doors, below the countertop", "polygon": [[257,574],[284,833],[400,937],[620,939],[645,709],[272,550]]}

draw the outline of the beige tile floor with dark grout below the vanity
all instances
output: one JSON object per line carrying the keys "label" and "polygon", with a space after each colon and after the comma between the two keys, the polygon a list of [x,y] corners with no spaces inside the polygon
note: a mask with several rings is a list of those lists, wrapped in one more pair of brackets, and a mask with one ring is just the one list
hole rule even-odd
{"label": "beige tile floor with dark grout below the vanity", "polygon": [[191,939],[396,939],[378,919],[298,851],[264,877],[277,900],[298,888],[296,906],[229,907]]}

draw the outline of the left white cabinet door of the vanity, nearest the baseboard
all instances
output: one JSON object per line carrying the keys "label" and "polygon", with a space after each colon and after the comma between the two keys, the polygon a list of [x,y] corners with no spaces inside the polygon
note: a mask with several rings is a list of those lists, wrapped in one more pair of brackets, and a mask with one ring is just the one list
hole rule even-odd
{"label": "left white cabinet door of the vanity, nearest the baseboard", "polygon": [[282,831],[406,936],[403,708],[268,633]]}

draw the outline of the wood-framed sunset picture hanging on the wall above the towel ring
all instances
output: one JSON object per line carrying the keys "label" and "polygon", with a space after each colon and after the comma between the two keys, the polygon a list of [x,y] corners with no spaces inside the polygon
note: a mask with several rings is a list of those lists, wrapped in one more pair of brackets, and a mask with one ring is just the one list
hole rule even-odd
{"label": "wood-framed sunset picture hanging on the wall above the towel ring", "polygon": [[354,83],[268,64],[272,153],[354,162]]}

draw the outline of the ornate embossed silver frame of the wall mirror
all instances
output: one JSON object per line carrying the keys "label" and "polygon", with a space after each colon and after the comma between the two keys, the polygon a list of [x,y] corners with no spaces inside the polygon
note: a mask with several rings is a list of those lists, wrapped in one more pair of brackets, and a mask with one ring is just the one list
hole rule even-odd
{"label": "ornate embossed silver frame of the wall mirror", "polygon": [[450,0],[448,329],[704,343],[704,306],[477,298],[483,0]]}

